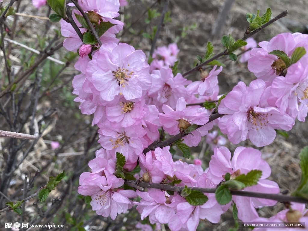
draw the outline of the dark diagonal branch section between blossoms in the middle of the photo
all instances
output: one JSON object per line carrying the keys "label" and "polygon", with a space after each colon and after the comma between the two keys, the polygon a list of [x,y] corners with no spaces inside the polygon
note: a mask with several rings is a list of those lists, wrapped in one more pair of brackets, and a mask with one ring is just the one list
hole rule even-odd
{"label": "dark diagonal branch section between blossoms in the middle of the photo", "polygon": [[[212,122],[213,120],[216,120],[217,118],[219,118],[219,117],[221,117],[221,116],[222,116],[222,115],[219,114],[219,113],[211,114],[211,115],[210,115],[210,118],[209,118],[209,122],[207,122],[206,124]],[[205,125],[205,124],[204,124],[204,125]],[[193,125],[192,125],[192,126],[193,126]],[[203,126],[203,125],[198,125],[198,126],[196,127],[196,129],[201,128],[202,126]],[[190,128],[190,127],[188,127],[188,128]],[[195,130],[196,130],[196,129],[195,129]],[[149,151],[151,151],[151,150],[155,150],[155,148],[157,148],[157,147],[162,148],[162,147],[166,147],[166,146],[171,145],[171,144],[172,144],[173,142],[175,142],[176,140],[179,140],[179,139],[181,139],[182,137],[187,136],[187,135],[189,134],[189,132],[186,132],[186,131],[187,131],[187,130],[185,130],[184,133],[179,133],[179,134],[177,134],[177,135],[175,135],[175,136],[172,136],[172,137],[170,137],[169,139],[164,140],[164,141],[155,140],[152,144],[150,144],[150,145],[148,146],[148,148],[145,148],[145,149],[143,150],[143,153],[146,154],[147,152],[149,152]],[[192,131],[190,131],[190,132],[192,132]]]}

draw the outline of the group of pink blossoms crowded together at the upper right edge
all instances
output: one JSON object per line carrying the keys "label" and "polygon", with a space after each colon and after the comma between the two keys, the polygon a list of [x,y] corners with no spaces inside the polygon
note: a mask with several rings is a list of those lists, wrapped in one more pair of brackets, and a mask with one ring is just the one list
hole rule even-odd
{"label": "group of pink blossoms crowded together at the upper right edge", "polygon": [[[305,121],[307,116],[308,35],[278,34],[259,46],[251,50],[248,60],[249,71],[258,79],[248,87],[239,82],[218,107],[220,114],[228,114],[219,121],[219,128],[233,144],[246,139],[258,147],[271,144],[275,129],[289,131],[295,119]],[[299,56],[300,50],[305,55]],[[280,58],[277,51],[285,55]]]}

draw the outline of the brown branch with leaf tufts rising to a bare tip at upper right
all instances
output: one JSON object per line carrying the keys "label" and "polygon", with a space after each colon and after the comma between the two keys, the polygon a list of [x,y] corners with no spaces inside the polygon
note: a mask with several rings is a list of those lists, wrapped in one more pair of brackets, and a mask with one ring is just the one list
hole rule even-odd
{"label": "brown branch with leaf tufts rising to a bare tip at upper right", "polygon": [[[250,32],[249,34],[244,35],[244,37],[242,38],[243,40],[248,39],[249,37],[253,36],[254,34],[257,34],[259,31],[263,30],[265,27],[269,26],[270,24],[272,24],[273,22],[276,22],[278,19],[285,17],[288,14],[288,10],[283,11],[281,14],[277,15],[275,18],[271,19],[270,21],[266,22],[263,26],[261,26],[259,29],[254,30],[252,32]],[[223,56],[223,55],[228,55],[227,50],[224,50],[222,52],[220,52],[219,54],[215,55],[212,59],[209,59],[203,63],[201,63],[200,65],[198,65],[197,67],[194,67],[192,69],[190,69],[189,71],[185,72],[183,74],[183,77],[198,71],[200,69],[200,67],[205,66],[206,64],[212,62],[215,59],[218,59],[219,57]]]}

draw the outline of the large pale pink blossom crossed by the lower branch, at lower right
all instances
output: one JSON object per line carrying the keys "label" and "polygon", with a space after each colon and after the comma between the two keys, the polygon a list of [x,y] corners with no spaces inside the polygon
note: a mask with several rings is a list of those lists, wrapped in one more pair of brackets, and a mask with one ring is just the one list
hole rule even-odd
{"label": "large pale pink blossom crossed by the lower branch, at lower right", "polygon": [[[215,148],[214,155],[209,163],[209,171],[207,177],[213,181],[215,185],[224,180],[226,173],[236,177],[239,174],[247,174],[251,170],[257,169],[262,171],[262,176],[257,185],[246,187],[244,191],[263,192],[263,193],[279,193],[278,184],[274,181],[267,180],[270,176],[271,169],[269,164],[261,158],[261,152],[253,148],[237,147],[231,159],[231,152],[225,148]],[[238,209],[238,217],[242,221],[252,221],[258,216],[254,208],[262,206],[273,206],[277,202],[262,198],[233,196],[233,201]]]}

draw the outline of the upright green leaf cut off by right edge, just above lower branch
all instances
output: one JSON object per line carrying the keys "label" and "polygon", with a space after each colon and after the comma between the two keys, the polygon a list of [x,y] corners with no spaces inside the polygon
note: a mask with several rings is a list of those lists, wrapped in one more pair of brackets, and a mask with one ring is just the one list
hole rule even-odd
{"label": "upright green leaf cut off by right edge, just above lower branch", "polygon": [[292,193],[292,195],[308,199],[308,146],[301,150],[299,159],[302,176],[298,188]]}

